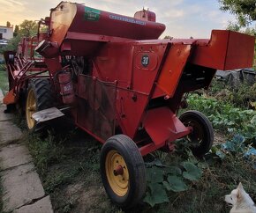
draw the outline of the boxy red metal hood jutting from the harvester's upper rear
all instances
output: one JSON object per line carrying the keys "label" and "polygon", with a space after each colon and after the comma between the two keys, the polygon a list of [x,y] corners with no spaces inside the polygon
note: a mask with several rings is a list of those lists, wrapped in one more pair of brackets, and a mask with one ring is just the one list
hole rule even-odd
{"label": "boxy red metal hood jutting from the harvester's upper rear", "polygon": [[216,70],[252,67],[255,38],[243,33],[213,30],[207,45],[193,46],[190,62]]}

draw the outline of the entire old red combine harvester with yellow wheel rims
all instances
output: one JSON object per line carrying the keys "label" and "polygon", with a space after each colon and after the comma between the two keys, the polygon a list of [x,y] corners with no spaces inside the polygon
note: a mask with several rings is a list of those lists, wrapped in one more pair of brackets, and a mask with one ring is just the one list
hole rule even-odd
{"label": "entire old red combine harvester with yellow wheel rims", "polygon": [[152,11],[131,18],[62,2],[40,21],[37,38],[23,40],[17,54],[4,54],[10,81],[4,103],[25,109],[30,131],[71,114],[104,143],[102,182],[124,208],[145,193],[142,156],[172,151],[182,137],[197,156],[210,150],[207,117],[197,111],[177,117],[185,94],[207,89],[216,70],[252,67],[252,36],[214,30],[210,40],[158,40],[164,30]]}

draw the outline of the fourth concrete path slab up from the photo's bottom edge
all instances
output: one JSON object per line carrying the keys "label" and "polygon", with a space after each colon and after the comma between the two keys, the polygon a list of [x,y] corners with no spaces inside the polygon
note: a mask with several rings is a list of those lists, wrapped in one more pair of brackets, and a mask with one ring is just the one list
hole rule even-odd
{"label": "fourth concrete path slab up from the photo's bottom edge", "polygon": [[17,141],[21,138],[22,132],[11,121],[0,122],[0,145]]}

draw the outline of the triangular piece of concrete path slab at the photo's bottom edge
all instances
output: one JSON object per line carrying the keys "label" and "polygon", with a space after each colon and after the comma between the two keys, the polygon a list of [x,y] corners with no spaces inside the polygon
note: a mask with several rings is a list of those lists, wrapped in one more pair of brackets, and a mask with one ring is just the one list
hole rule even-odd
{"label": "triangular piece of concrete path slab at the photo's bottom edge", "polygon": [[49,195],[34,204],[23,206],[13,211],[13,213],[53,213]]}

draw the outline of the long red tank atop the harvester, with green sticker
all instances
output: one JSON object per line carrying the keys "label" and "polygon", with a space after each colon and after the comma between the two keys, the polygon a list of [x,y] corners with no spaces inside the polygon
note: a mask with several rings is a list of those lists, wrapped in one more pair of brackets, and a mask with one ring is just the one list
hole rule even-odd
{"label": "long red tank atop the harvester, with green sticker", "polygon": [[51,10],[49,41],[57,42],[62,52],[91,56],[105,42],[158,39],[164,30],[153,21],[62,2]]}

